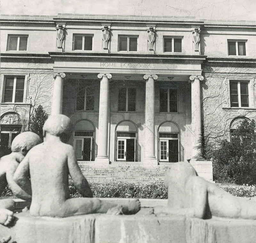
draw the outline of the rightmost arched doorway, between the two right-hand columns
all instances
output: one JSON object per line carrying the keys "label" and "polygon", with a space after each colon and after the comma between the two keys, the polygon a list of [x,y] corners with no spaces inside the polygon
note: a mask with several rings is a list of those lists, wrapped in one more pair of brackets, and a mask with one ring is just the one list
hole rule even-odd
{"label": "rightmost arched doorway, between the two right-hand columns", "polygon": [[159,162],[180,161],[180,130],[173,122],[164,122],[158,128]]}

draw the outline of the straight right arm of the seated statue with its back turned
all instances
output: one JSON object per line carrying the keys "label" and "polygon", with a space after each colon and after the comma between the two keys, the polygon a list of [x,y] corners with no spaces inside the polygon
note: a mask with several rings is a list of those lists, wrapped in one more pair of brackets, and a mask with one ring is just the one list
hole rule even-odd
{"label": "straight right arm of the seated statue with its back turned", "polygon": [[82,194],[82,196],[93,197],[90,185],[77,164],[75,152],[71,146],[68,151],[68,170],[77,190]]}

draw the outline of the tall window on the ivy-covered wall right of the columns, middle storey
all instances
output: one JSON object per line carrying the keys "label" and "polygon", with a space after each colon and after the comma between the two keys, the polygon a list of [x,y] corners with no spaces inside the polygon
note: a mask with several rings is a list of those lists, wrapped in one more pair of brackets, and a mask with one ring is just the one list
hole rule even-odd
{"label": "tall window on the ivy-covered wall right of the columns, middle storey", "polygon": [[230,106],[249,107],[248,82],[230,81]]}

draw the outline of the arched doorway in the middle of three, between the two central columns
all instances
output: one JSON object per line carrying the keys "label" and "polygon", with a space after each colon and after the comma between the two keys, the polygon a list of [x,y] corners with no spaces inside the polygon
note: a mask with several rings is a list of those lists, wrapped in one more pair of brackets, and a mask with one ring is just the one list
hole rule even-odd
{"label": "arched doorway in the middle of three, between the two central columns", "polygon": [[116,161],[136,161],[137,127],[130,121],[120,122],[116,127]]}

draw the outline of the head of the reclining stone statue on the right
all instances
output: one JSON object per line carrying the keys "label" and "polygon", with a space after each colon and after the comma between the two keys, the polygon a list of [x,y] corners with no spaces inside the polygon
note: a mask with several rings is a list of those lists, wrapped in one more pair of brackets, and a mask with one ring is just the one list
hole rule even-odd
{"label": "head of the reclining stone statue on the right", "polygon": [[197,176],[197,173],[188,162],[170,163],[164,177],[164,185],[167,188],[170,183],[182,185],[191,176]]}

